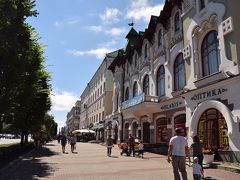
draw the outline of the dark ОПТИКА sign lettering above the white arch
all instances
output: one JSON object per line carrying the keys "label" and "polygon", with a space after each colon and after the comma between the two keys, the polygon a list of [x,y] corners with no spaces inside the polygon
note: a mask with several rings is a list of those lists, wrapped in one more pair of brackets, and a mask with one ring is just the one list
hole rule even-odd
{"label": "dark \u041e\u041f\u0422\u0418\u041a\u0410 sign lettering above the white arch", "polygon": [[210,91],[205,91],[205,92],[193,95],[191,100],[192,101],[198,101],[198,100],[206,99],[206,98],[209,98],[209,97],[218,96],[218,95],[221,95],[222,93],[224,93],[226,91],[227,91],[227,89],[224,89],[224,88],[218,88],[218,89],[213,89],[213,90],[210,90]]}

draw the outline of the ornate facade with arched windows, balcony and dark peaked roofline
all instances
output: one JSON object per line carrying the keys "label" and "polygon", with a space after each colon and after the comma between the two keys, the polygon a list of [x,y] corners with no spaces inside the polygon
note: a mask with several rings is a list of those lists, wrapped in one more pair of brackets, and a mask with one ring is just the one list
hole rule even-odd
{"label": "ornate facade with arched windows, balcony and dark peaked roofline", "polygon": [[219,156],[239,158],[238,8],[236,0],[169,0],[144,32],[132,28],[109,66],[106,134],[167,147],[178,127],[189,144],[198,135]]}

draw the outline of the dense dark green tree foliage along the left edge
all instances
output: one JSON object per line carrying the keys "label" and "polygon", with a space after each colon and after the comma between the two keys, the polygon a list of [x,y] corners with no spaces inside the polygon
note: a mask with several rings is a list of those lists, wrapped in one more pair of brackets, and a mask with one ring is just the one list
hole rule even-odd
{"label": "dense dark green tree foliage along the left edge", "polygon": [[0,0],[0,120],[21,134],[22,143],[41,131],[51,107],[43,47],[26,23],[37,16],[34,7],[31,0]]}

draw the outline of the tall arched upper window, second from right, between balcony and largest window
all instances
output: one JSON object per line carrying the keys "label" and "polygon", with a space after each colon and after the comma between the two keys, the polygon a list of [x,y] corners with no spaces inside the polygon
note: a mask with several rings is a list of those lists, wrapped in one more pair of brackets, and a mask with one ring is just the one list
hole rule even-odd
{"label": "tall arched upper window, second from right, between balcony and largest window", "polygon": [[174,90],[181,90],[185,86],[185,67],[183,55],[179,54],[174,62]]}

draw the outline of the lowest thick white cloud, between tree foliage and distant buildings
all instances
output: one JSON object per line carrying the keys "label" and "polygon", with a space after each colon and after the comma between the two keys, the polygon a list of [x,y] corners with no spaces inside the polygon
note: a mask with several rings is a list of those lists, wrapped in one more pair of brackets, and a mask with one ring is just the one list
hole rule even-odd
{"label": "lowest thick white cloud, between tree foliage and distant buildings", "polygon": [[54,91],[51,95],[52,110],[54,111],[70,111],[78,100],[77,96],[71,92]]}

